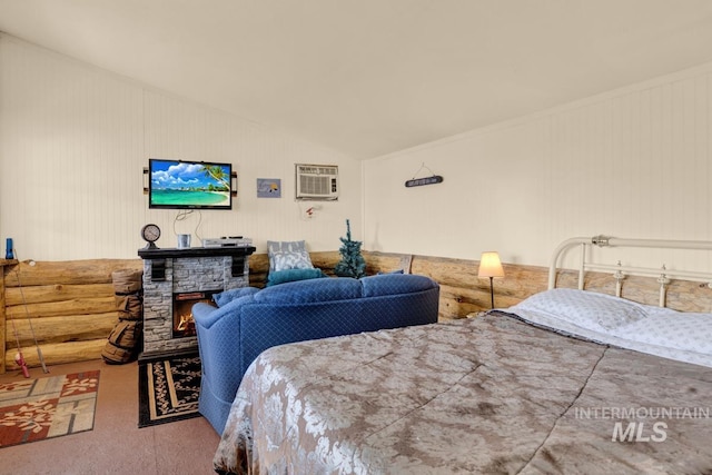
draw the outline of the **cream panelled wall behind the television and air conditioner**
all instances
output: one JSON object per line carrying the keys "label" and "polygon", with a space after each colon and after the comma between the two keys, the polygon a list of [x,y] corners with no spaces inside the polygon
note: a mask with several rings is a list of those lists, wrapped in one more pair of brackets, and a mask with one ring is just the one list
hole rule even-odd
{"label": "cream panelled wall behind the television and air conditioner", "polygon": [[[231,211],[149,210],[148,159],[231,162],[238,197]],[[294,165],[339,166],[340,197],[296,202]],[[283,197],[257,198],[257,178],[280,178]],[[132,258],[147,222],[177,232],[306,239],[335,250],[352,220],[363,234],[362,164],[268,127],[202,107],[130,79],[0,34],[0,238],[20,259]],[[194,241],[194,245],[196,243]]]}

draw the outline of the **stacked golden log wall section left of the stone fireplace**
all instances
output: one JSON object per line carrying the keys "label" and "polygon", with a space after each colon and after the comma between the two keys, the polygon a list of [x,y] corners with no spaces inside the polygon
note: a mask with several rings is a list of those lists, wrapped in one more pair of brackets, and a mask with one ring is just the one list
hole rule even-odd
{"label": "stacked golden log wall section left of the stone fireplace", "polygon": [[[3,273],[3,360],[19,369],[17,339],[29,367],[99,359],[118,321],[111,273],[142,270],[141,259],[22,261]],[[16,339],[17,330],[17,339]]]}

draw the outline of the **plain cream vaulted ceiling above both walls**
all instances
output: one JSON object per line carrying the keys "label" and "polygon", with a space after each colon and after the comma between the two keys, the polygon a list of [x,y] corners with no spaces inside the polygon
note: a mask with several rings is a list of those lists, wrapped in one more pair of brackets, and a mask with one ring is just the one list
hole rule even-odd
{"label": "plain cream vaulted ceiling above both walls", "polygon": [[0,0],[0,31],[356,159],[712,61],[710,0]]}

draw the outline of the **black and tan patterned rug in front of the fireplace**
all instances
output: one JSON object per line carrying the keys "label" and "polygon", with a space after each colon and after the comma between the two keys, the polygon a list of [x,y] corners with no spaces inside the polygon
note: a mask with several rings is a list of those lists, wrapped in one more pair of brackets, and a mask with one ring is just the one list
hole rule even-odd
{"label": "black and tan patterned rug in front of the fireplace", "polygon": [[181,356],[138,365],[138,426],[197,417],[200,358]]}

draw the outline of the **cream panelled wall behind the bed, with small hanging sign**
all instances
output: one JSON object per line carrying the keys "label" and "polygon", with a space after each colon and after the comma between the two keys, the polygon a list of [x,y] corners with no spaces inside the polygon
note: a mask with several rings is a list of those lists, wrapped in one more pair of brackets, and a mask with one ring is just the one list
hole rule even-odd
{"label": "cream panelled wall behind the bed, with small hanging sign", "polygon": [[[573,236],[712,240],[711,115],[705,65],[369,160],[364,246],[546,266]],[[423,164],[444,182],[405,188],[431,175]],[[640,256],[627,264],[671,268],[665,253]]]}

